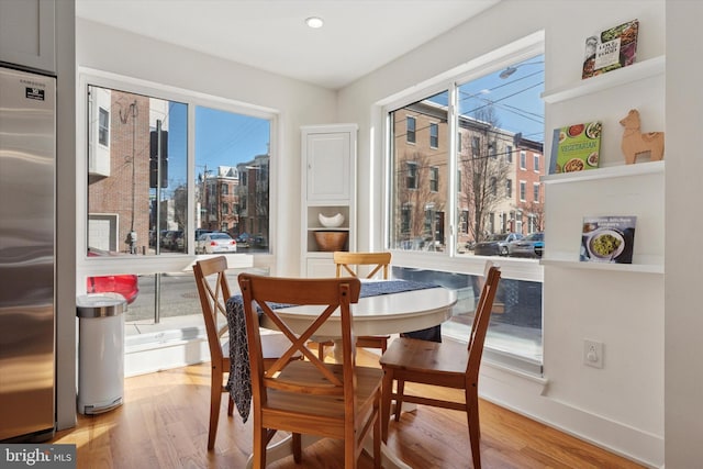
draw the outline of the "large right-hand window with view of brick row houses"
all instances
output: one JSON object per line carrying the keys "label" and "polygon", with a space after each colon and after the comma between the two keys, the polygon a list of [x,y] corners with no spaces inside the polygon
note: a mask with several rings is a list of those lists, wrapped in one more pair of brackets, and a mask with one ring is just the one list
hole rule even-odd
{"label": "large right-hand window with view of brick row houses", "polygon": [[[394,265],[410,269],[413,276],[422,268],[428,281],[459,280],[456,273],[447,276],[443,270],[458,272],[465,264],[481,271],[481,260],[469,261],[479,257],[475,254],[479,243],[502,234],[525,236],[544,230],[544,203],[539,203],[539,177],[546,166],[539,165],[544,155],[544,104],[539,98],[544,89],[543,57],[494,66],[488,74],[472,70],[467,76],[470,78],[466,80],[457,77],[439,92],[388,109],[388,245],[397,249]],[[411,121],[416,139],[409,145]],[[435,134],[443,136],[437,137],[436,145]],[[451,141],[450,135],[455,136]],[[529,171],[527,152],[535,163]],[[514,153],[518,158],[513,158]],[[513,181],[518,183],[516,190]],[[533,193],[527,193],[527,185],[534,188]],[[410,254],[403,257],[409,250],[428,252],[428,259],[421,261]],[[496,314],[501,321],[489,331],[487,346],[521,356],[538,368],[542,284],[527,279],[540,277],[542,250],[527,256],[529,264],[512,260],[507,248],[496,248],[495,253],[507,256],[501,260],[501,265],[507,261],[507,273],[499,300],[503,314]],[[520,275],[511,273],[507,266],[513,261]],[[435,269],[427,269],[428,264]],[[532,273],[523,275],[526,271]],[[473,298],[475,282],[471,275],[460,279],[460,298]],[[470,315],[457,315],[443,331],[461,337],[467,325]]]}

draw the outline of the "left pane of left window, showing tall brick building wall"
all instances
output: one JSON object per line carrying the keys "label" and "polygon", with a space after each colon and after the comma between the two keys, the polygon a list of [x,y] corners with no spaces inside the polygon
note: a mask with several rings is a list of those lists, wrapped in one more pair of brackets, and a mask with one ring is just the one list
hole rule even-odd
{"label": "left pane of left window, showing tall brick building wall", "polygon": [[164,254],[187,252],[177,236],[188,225],[187,110],[181,102],[88,87],[91,255],[154,255],[159,243]]}

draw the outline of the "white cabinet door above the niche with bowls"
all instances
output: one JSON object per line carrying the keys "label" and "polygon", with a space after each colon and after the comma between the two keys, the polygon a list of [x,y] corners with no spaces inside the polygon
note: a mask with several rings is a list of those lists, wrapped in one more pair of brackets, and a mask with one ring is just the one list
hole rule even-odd
{"label": "white cabinet door above the niche with bowls", "polygon": [[349,199],[349,132],[308,134],[308,201]]}

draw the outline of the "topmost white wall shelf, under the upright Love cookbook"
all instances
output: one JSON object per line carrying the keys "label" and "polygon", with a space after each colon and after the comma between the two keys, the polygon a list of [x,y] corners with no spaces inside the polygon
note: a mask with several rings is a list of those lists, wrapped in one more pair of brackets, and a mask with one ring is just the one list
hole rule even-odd
{"label": "topmost white wall shelf, under the upright Love cookbook", "polygon": [[663,75],[666,70],[666,56],[649,58],[643,62],[609,71],[603,75],[587,78],[576,83],[557,87],[542,93],[542,99],[548,103],[566,101],[569,99],[600,92],[609,88],[632,83],[636,80]]}

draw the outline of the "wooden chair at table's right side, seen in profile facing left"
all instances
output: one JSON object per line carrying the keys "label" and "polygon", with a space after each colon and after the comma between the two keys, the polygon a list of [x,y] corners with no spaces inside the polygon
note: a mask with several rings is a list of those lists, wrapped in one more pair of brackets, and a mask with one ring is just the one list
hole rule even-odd
{"label": "wooden chair at table's right side, seen in profile facing left", "polygon": [[[381,356],[380,364],[384,372],[383,397],[381,400],[381,432],[384,442],[388,439],[391,400],[395,400],[394,416],[397,422],[400,420],[400,410],[403,402],[464,411],[467,413],[469,425],[473,468],[480,469],[479,366],[500,277],[499,267],[490,266],[488,268],[486,282],[476,308],[468,346],[462,346],[456,342],[434,343],[401,337],[393,340],[386,354]],[[398,382],[395,392],[393,392],[393,381]],[[462,389],[465,401],[454,402],[406,394],[405,382]]]}

